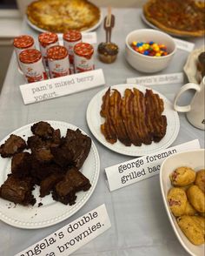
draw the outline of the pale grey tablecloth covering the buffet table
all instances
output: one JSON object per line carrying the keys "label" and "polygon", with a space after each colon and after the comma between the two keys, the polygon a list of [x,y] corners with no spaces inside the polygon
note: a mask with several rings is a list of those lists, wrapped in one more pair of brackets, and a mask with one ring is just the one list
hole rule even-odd
{"label": "pale grey tablecloth covering the buffet table", "polygon": [[[106,10],[102,10],[105,14]],[[120,52],[113,64],[102,64],[95,56],[96,69],[102,68],[106,85],[125,84],[127,77],[145,76],[129,66],[124,57],[124,41],[131,30],[148,28],[141,19],[140,9],[114,9],[116,26],[112,41],[118,44]],[[96,30],[98,44],[105,40],[105,32],[101,24]],[[23,21],[22,34],[30,34],[35,39],[36,30]],[[195,48],[203,44],[202,38],[189,38]],[[95,46],[96,47],[96,46]],[[169,67],[157,74],[182,72],[188,51],[177,50]],[[188,82],[185,77],[185,83]],[[50,233],[66,226],[86,212],[105,204],[111,228],[74,255],[109,256],[109,255],[187,255],[182,248],[169,223],[165,211],[159,185],[158,175],[129,185],[115,192],[109,192],[104,168],[122,163],[131,157],[112,152],[101,145],[89,131],[86,122],[86,110],[91,98],[101,87],[79,92],[62,98],[54,98],[36,104],[23,104],[19,85],[23,84],[22,75],[17,71],[17,60],[13,54],[0,96],[0,140],[17,128],[39,120],[58,120],[80,127],[87,132],[96,144],[100,156],[100,177],[95,192],[89,201],[69,219],[54,226],[42,229],[20,229],[0,221],[0,255],[11,256],[47,237]],[[176,91],[182,84],[162,84],[152,86],[173,102]],[[191,96],[191,93],[190,93]],[[184,103],[190,98],[183,98]],[[180,131],[173,145],[179,145],[198,138],[204,147],[204,131],[190,125],[185,115],[179,114]]]}

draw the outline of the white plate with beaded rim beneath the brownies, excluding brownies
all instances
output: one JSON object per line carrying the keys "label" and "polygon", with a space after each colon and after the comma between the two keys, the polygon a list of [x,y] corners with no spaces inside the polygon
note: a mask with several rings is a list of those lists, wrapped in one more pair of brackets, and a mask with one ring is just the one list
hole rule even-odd
{"label": "white plate with beaded rim beneath the brownies, excluding brownies", "polygon": [[[59,128],[61,131],[61,136],[65,136],[68,128],[73,130],[77,129],[75,125],[69,125],[68,123],[64,122],[47,122],[50,123],[50,125],[52,125],[52,127],[55,129]],[[27,138],[32,135],[32,132],[30,131],[31,125],[33,124],[25,125],[11,133],[21,136],[23,139],[27,140]],[[83,133],[85,134],[85,132]],[[10,137],[10,134],[6,138],[3,138],[3,140],[0,142],[0,145],[4,143],[5,139]],[[0,165],[0,185],[2,185],[5,179],[7,179],[7,174],[10,173],[10,158],[0,157]],[[85,160],[81,169],[81,172],[83,172],[83,174],[89,179],[91,187],[87,192],[76,193],[77,199],[75,205],[63,205],[62,203],[53,200],[51,195],[41,199],[39,198],[39,187],[37,186],[33,192],[36,198],[36,204],[33,206],[16,205],[10,201],[0,199],[0,219],[10,226],[17,226],[26,229],[52,226],[63,221],[64,219],[68,219],[75,212],[80,210],[89,200],[89,197],[95,190],[99,171],[100,160],[96,150],[96,145],[94,145],[92,142],[89,156]],[[38,207],[39,203],[42,203],[43,205]]]}

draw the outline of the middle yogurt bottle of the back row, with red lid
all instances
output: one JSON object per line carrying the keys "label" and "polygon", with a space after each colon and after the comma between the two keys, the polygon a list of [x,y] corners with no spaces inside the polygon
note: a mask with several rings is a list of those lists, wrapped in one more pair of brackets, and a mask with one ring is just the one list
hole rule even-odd
{"label": "middle yogurt bottle of the back row, with red lid", "polygon": [[38,36],[38,42],[43,57],[43,65],[45,68],[49,68],[47,50],[52,46],[59,45],[57,34],[53,32],[41,33]]}

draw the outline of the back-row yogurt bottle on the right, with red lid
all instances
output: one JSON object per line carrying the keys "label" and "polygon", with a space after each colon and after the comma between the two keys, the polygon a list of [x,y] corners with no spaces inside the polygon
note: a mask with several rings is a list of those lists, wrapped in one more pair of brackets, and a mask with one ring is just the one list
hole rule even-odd
{"label": "back-row yogurt bottle on the right, with red lid", "polygon": [[[74,46],[82,42],[82,34],[77,30],[69,30],[63,34],[63,45],[69,52],[69,64],[74,64]],[[71,66],[70,65],[70,66]]]}

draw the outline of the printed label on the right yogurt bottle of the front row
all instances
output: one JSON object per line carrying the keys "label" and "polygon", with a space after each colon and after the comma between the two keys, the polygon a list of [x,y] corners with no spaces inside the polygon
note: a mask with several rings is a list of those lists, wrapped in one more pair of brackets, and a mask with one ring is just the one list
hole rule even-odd
{"label": "printed label on the right yogurt bottle of the front row", "polygon": [[95,70],[93,57],[86,58],[86,57],[81,57],[81,56],[78,56],[75,54],[74,62],[75,62],[75,72],[76,73]]}

